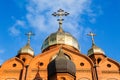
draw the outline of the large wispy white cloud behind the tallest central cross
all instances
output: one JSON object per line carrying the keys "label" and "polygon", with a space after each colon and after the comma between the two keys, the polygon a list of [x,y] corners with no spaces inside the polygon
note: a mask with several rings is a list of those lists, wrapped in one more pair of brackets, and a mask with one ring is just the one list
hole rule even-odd
{"label": "large wispy white cloud behind the tallest central cross", "polygon": [[[82,34],[85,29],[81,25],[84,21],[82,15],[95,17],[91,10],[91,0],[30,0],[27,5],[26,18],[35,30],[50,33],[58,28],[57,18],[51,14],[60,8],[70,13],[65,18],[63,28],[74,36]],[[91,21],[94,22],[95,18],[92,18]]]}

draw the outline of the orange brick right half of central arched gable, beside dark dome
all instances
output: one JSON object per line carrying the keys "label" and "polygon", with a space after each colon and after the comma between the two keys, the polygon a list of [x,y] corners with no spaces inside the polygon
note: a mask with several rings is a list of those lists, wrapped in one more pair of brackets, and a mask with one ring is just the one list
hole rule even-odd
{"label": "orange brick right half of central arched gable, beside dark dome", "polygon": [[70,50],[66,47],[63,47],[62,49],[64,49],[64,52],[70,54],[73,57],[72,61],[76,65],[76,80],[81,77],[87,77],[89,79],[92,79],[92,76],[94,75],[93,61],[87,55],[81,54],[80,52]]}

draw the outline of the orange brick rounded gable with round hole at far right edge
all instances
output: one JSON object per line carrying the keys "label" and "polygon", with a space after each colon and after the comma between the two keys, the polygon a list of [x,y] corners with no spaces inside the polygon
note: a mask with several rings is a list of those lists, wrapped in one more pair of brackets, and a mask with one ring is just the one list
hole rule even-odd
{"label": "orange brick rounded gable with round hole at far right edge", "polygon": [[102,77],[105,80],[109,80],[112,78],[117,79],[119,77],[119,71],[119,63],[110,58],[104,58],[99,64],[99,77]]}

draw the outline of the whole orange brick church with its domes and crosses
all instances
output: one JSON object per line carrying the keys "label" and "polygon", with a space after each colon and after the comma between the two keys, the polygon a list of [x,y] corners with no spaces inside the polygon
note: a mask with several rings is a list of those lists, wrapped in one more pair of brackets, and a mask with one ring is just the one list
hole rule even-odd
{"label": "whole orange brick church with its domes and crosses", "polygon": [[26,45],[0,66],[0,80],[120,80],[120,63],[95,44],[94,33],[88,34],[92,44],[85,55],[76,38],[62,29],[62,16],[68,14],[62,9],[53,13],[60,17],[59,28],[44,40],[38,55],[30,46],[33,33],[27,33]]}

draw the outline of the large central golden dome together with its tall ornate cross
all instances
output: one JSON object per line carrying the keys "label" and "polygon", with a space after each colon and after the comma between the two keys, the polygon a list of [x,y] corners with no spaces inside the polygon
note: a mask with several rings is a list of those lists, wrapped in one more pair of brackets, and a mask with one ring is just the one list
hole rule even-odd
{"label": "large central golden dome together with its tall ornate cross", "polygon": [[65,44],[74,47],[79,51],[79,45],[78,41],[70,34],[65,32],[62,29],[62,21],[63,19],[61,18],[62,16],[67,16],[69,13],[64,12],[64,10],[60,9],[58,12],[54,12],[52,15],[53,16],[59,16],[60,19],[59,21],[59,29],[57,32],[50,34],[45,41],[43,42],[42,45],[42,51],[46,50],[48,47],[52,45],[57,45],[57,44]]}

